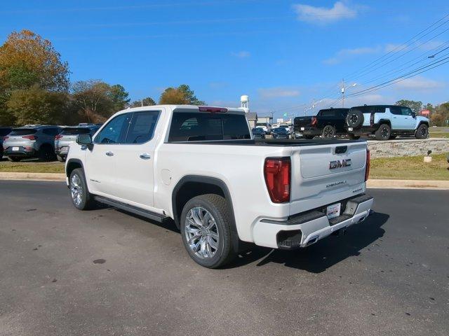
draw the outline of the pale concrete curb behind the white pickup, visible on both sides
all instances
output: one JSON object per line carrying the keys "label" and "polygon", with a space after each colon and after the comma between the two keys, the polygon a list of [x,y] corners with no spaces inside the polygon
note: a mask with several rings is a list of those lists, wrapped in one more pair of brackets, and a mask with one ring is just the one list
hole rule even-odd
{"label": "pale concrete curb behind the white pickup, visible on both sides", "polygon": [[[0,172],[0,180],[65,181],[59,173],[6,173]],[[367,188],[449,190],[449,181],[425,180],[368,180]]]}

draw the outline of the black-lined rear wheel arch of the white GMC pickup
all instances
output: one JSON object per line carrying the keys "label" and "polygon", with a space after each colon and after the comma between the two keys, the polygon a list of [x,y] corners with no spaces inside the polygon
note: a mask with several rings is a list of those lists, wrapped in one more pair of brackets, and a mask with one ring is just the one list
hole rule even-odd
{"label": "black-lined rear wheel arch of the white GMC pickup", "polygon": [[180,228],[180,216],[182,208],[193,197],[205,194],[217,194],[225,198],[231,215],[231,227],[236,233],[236,221],[234,207],[229,189],[224,181],[210,176],[187,175],[176,183],[172,193],[172,213],[173,220],[177,228]]}

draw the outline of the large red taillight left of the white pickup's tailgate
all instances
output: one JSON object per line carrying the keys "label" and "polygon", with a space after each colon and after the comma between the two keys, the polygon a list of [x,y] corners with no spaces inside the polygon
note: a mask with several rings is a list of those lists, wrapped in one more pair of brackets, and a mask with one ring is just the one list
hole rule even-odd
{"label": "large red taillight left of the white pickup's tailgate", "polygon": [[267,158],[265,160],[265,183],[272,202],[290,201],[290,171],[290,158]]}

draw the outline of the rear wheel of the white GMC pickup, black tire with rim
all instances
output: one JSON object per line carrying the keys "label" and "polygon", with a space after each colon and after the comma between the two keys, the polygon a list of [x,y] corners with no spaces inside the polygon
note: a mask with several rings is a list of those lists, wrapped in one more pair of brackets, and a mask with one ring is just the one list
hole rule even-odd
{"label": "rear wheel of the white GMC pickup, black tire with rim", "polygon": [[[210,216],[212,216],[213,220],[215,220],[215,224],[212,228],[210,228],[210,230],[205,231],[204,226],[201,228],[201,225],[196,224],[198,221],[194,221],[192,219],[194,218],[192,216],[195,213],[194,209],[196,209],[195,211],[202,211],[201,214],[204,214],[203,218],[208,216],[207,212]],[[189,216],[190,221],[188,221],[187,216]],[[200,216],[196,217],[200,218]],[[189,228],[187,229],[186,223],[194,223],[194,225],[189,224]],[[212,222],[209,221],[208,225],[211,225],[210,223]],[[223,265],[231,262],[236,257],[238,252],[235,251],[235,244],[232,244],[232,241],[234,241],[236,237],[234,237],[235,233],[232,230],[231,223],[231,211],[229,211],[229,206],[225,198],[220,195],[200,195],[192,198],[192,200],[189,200],[185,204],[184,209],[182,209],[180,227],[182,243],[184,244],[187,253],[189,253],[190,258],[192,258],[199,265],[208,268],[222,267]],[[213,236],[210,235],[210,233],[217,235],[217,239],[212,238]],[[192,247],[189,246],[189,239],[192,239]],[[206,247],[208,244],[208,248],[205,248],[205,252],[209,255],[205,256],[201,252],[202,239]],[[208,239],[213,239],[213,244],[209,243]],[[215,245],[216,248],[214,248],[213,245]],[[199,251],[194,251],[192,248],[199,248]],[[215,251],[212,251],[213,249]]]}

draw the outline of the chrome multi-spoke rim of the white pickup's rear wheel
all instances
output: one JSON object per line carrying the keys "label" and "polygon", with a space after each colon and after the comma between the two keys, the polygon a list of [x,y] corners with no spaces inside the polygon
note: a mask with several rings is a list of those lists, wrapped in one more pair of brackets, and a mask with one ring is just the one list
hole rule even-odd
{"label": "chrome multi-spoke rim of the white pickup's rear wheel", "polygon": [[218,228],[215,218],[203,207],[193,207],[184,223],[185,238],[190,250],[201,259],[210,259],[218,249]]}

